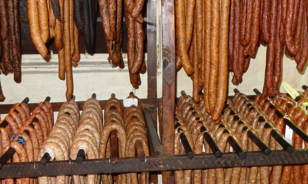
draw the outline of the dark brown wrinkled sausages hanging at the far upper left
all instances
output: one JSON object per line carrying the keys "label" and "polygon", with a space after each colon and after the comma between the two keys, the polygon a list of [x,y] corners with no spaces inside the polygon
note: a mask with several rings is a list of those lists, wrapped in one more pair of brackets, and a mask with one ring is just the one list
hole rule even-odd
{"label": "dark brown wrinkled sausages hanging at the far upper left", "polygon": [[[0,1],[0,70],[2,74],[14,73],[14,81],[21,82],[21,50],[18,1]],[[5,97],[0,84],[0,102]]]}

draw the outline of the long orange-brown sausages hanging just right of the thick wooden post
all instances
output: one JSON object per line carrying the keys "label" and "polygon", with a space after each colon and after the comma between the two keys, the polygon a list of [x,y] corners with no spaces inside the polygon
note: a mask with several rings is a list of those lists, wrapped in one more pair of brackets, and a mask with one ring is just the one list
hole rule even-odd
{"label": "long orange-brown sausages hanging just right of the thick wooden post", "polygon": [[175,1],[176,68],[193,80],[193,101],[204,91],[207,113],[219,122],[228,82],[229,0]]}

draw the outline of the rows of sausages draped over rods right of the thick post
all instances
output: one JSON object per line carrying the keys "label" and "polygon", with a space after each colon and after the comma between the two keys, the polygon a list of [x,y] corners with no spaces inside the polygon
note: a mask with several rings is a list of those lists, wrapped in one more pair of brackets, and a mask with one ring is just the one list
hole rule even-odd
{"label": "rows of sausages draped over rods right of the thick post", "polygon": [[[255,100],[251,101],[245,94],[236,93],[232,100],[227,98],[221,113],[220,124],[215,124],[211,116],[206,113],[202,103],[203,96],[200,96],[199,103],[195,103],[193,97],[182,95],[175,109],[174,152],[185,154],[183,143],[179,138],[181,133],[185,134],[194,154],[212,153],[211,146],[205,142],[205,133],[210,135],[223,153],[234,152],[227,141],[229,137],[232,137],[244,152],[259,151],[260,148],[249,138],[248,131],[270,150],[282,150],[284,148],[271,136],[271,131],[276,131],[281,136],[285,135],[284,118],[287,117],[304,132],[308,132],[308,123],[306,123],[308,116],[302,109],[302,104],[308,101],[307,93],[308,90],[301,93],[302,98],[298,102],[282,93],[278,93],[270,101],[262,99],[262,94],[258,94]],[[271,104],[274,104],[276,109],[270,108]],[[275,110],[280,110],[285,117],[280,117]],[[159,113],[161,113],[160,110]],[[306,148],[307,143],[293,132],[291,145],[295,149],[301,149],[303,144]],[[176,183],[302,183],[307,180],[307,171],[306,165],[177,170],[175,179]]]}

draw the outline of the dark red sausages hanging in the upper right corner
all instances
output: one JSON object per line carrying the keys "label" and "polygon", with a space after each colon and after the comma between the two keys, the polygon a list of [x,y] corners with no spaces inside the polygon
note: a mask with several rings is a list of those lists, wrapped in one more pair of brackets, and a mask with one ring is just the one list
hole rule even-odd
{"label": "dark red sausages hanging in the upper right corner", "polygon": [[260,44],[267,46],[262,98],[279,91],[283,53],[294,58],[302,72],[308,59],[306,12],[306,0],[231,0],[228,68],[233,72],[232,82],[242,81]]}

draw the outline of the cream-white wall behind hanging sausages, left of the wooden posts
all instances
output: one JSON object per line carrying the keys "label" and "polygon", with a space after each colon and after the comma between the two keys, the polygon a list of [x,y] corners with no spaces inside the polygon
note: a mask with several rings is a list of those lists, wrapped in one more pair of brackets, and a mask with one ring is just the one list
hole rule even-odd
{"label": "cream-white wall behind hanging sausages, left of the wooden posts", "polygon": [[[22,82],[17,84],[13,74],[0,75],[3,94],[2,104],[21,102],[25,97],[29,103],[43,101],[46,96],[51,102],[65,102],[66,82],[58,78],[58,55],[43,59],[40,55],[22,56]],[[110,98],[115,93],[119,99],[126,98],[133,90],[129,82],[127,56],[124,54],[125,68],[112,68],[107,61],[108,54],[93,56],[82,54],[79,66],[73,68],[74,95],[76,101],[84,101],[96,93],[98,100]],[[145,55],[145,59],[146,55]],[[140,98],[147,97],[147,74],[141,74],[142,85],[135,91]]]}

